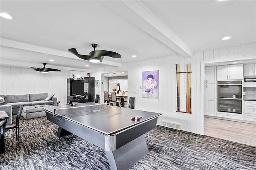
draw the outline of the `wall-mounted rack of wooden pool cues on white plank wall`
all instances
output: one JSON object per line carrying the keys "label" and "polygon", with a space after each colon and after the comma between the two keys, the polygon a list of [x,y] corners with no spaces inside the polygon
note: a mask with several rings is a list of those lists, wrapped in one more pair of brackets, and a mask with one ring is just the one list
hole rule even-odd
{"label": "wall-mounted rack of wooden pool cues on white plank wall", "polygon": [[[186,73],[186,112],[180,111],[180,74]],[[180,72],[180,66],[176,64],[177,80],[177,111],[191,113],[191,64],[186,64],[186,72]]]}

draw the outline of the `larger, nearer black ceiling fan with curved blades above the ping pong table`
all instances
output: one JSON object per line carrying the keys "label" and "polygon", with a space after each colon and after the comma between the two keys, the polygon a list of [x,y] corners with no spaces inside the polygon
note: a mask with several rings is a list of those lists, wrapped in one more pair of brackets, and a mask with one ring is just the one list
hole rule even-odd
{"label": "larger, nearer black ceiling fan with curved blades above the ping pong table", "polygon": [[91,51],[89,55],[81,55],[78,54],[76,51],[76,48],[70,48],[68,49],[69,52],[72,54],[78,56],[79,58],[82,58],[84,60],[88,60],[90,62],[102,62],[104,56],[109,56],[112,58],[122,58],[120,54],[113,52],[113,51],[106,51],[106,50],[95,50],[95,48],[98,46],[98,44],[92,44],[92,48],[94,48],[94,51]]}

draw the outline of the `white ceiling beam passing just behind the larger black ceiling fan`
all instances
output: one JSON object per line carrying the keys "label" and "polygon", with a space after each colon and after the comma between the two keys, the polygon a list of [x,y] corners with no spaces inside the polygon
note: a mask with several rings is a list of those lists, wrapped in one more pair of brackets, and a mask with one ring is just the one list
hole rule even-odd
{"label": "white ceiling beam passing just behind the larger black ceiling fan", "polygon": [[[28,50],[28,51],[39,52],[39,53],[43,53],[43,54],[50,54],[50,55],[54,55],[54,56],[61,56],[61,57],[72,58],[72,59],[84,61],[84,60],[74,56],[74,54],[71,54],[70,52],[54,50],[51,48],[45,48],[45,47],[41,47],[41,46],[35,46],[32,44],[26,44],[23,42],[7,40],[4,38],[0,38],[0,46],[6,46],[9,48],[18,48],[18,49],[22,49],[22,50]],[[99,64],[107,65],[107,66],[114,66],[114,67],[122,66],[122,64],[120,64],[120,63],[111,62],[111,61],[107,61],[107,60],[103,60]]]}

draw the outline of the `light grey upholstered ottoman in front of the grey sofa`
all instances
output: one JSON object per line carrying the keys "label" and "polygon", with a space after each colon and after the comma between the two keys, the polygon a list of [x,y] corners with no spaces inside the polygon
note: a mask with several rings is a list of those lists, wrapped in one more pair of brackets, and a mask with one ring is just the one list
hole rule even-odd
{"label": "light grey upholstered ottoman in front of the grey sofa", "polygon": [[25,106],[22,110],[21,116],[25,119],[40,118],[46,116],[42,107],[49,107],[46,104],[36,106]]}

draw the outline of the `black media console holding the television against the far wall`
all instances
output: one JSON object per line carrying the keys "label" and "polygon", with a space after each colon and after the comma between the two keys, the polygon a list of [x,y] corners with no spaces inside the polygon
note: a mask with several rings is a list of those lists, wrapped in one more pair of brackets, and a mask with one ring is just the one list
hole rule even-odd
{"label": "black media console holding the television against the far wall", "polygon": [[67,79],[67,104],[72,102],[94,102],[94,77],[85,77],[84,80]]}

